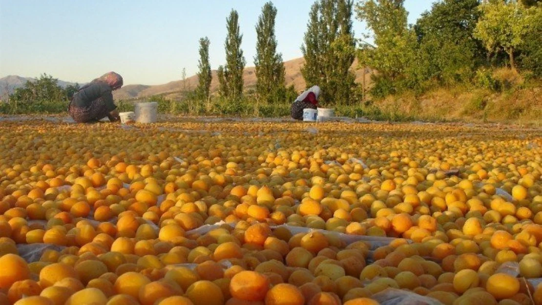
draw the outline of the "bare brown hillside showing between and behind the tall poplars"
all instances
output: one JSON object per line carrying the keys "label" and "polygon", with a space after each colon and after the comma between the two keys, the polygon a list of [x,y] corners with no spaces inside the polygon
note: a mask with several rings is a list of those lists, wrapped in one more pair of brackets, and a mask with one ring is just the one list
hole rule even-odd
{"label": "bare brown hillside showing between and behind the tall poplars", "polygon": [[[301,68],[305,64],[305,59],[298,58],[286,61],[285,74],[286,74],[286,86],[294,85],[296,91],[302,90],[305,88],[305,80],[301,75]],[[352,69],[355,69],[356,73],[356,82],[362,82],[362,70],[356,69],[358,63],[354,61],[352,64]],[[243,72],[244,87],[245,89],[254,88],[256,86],[256,74],[254,67],[247,67]],[[365,75],[365,80],[369,82],[369,69]],[[183,88],[188,90],[195,89],[198,83],[198,76],[192,75],[187,77],[185,84],[182,80],[172,81],[164,85],[156,86],[144,86],[144,85],[127,85],[113,93],[115,99],[135,99],[135,98],[145,98],[152,95],[164,95],[167,99],[178,99],[181,96]],[[211,81],[211,92],[216,92],[218,90],[218,78],[216,75],[216,70],[212,70],[212,81]]]}

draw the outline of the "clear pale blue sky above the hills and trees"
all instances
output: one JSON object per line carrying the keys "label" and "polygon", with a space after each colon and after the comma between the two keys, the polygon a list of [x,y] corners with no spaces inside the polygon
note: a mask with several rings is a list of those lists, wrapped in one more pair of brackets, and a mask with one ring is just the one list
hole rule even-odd
{"label": "clear pale blue sky above the hills and trees", "polygon": [[[198,40],[211,41],[210,61],[225,61],[225,20],[240,16],[247,66],[254,66],[254,26],[263,0],[0,0],[0,77],[50,74],[88,82],[113,70],[127,84],[158,85],[197,71]],[[301,57],[313,0],[274,0],[284,60]],[[409,22],[434,0],[406,0]],[[365,31],[354,21],[356,37]]]}

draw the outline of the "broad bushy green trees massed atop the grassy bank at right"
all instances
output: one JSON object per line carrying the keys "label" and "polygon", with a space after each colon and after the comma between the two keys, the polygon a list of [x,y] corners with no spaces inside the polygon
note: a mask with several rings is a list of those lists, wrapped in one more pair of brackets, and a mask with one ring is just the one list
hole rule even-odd
{"label": "broad bushy green trees massed atop the grassy bank at right", "polygon": [[373,33],[374,44],[363,43],[358,58],[378,71],[374,96],[472,83],[486,77],[487,68],[542,76],[539,0],[443,0],[414,25],[403,3],[363,0],[356,6]]}

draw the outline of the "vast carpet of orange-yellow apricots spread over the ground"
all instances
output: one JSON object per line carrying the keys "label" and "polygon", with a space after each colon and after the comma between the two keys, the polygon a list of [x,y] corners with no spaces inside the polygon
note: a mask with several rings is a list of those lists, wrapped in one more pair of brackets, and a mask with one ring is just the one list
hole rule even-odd
{"label": "vast carpet of orange-yellow apricots spread over the ground", "polygon": [[542,304],[542,129],[0,119],[0,304]]}

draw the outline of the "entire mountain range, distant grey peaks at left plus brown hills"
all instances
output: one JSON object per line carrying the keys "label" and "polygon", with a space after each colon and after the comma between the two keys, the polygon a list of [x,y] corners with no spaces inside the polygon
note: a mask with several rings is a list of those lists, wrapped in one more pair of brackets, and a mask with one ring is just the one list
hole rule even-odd
{"label": "entire mountain range, distant grey peaks at left plus brown hills", "polygon": [[[305,89],[305,80],[301,75],[301,68],[305,64],[305,59],[298,58],[284,62],[286,86],[294,85],[296,91]],[[356,82],[363,82],[363,69],[358,68],[357,61],[354,61],[351,69],[356,74]],[[365,69],[365,81],[370,81],[370,69]],[[256,86],[256,73],[254,67],[247,67],[243,72],[244,87],[245,89],[255,88]],[[11,94],[18,87],[24,86],[27,80],[33,81],[33,77],[22,77],[16,75],[10,75],[0,79],[0,96]],[[73,85],[71,82],[59,80],[59,86],[66,87]],[[142,99],[152,95],[162,95],[166,99],[178,99],[183,95],[186,90],[195,89],[198,84],[198,76],[193,75],[187,77],[184,81],[177,80],[165,83],[163,85],[126,85],[115,92],[113,96],[115,99]],[[218,90],[218,77],[216,70],[212,70],[211,92],[217,92]]]}

